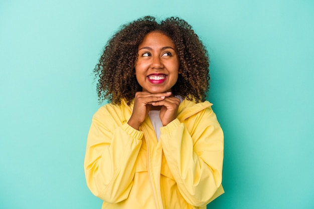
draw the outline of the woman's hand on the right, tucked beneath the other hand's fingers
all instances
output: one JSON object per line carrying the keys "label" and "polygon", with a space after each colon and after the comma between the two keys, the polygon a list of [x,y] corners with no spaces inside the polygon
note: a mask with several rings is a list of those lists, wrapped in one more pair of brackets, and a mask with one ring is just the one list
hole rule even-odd
{"label": "woman's hand on the right, tucked beneath the other hand's fingers", "polygon": [[162,101],[151,103],[153,106],[162,106],[160,112],[160,118],[163,126],[168,125],[171,121],[177,118],[177,112],[181,101],[179,98],[171,96],[166,97]]}

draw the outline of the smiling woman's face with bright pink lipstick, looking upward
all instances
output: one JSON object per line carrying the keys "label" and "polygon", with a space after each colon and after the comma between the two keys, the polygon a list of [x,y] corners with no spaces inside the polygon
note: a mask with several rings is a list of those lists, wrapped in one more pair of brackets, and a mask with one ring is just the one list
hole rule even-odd
{"label": "smiling woman's face with bright pink lipstick, looking upward", "polygon": [[182,73],[173,41],[161,32],[153,31],[144,37],[137,53],[135,75],[142,91],[170,92],[178,74]]}

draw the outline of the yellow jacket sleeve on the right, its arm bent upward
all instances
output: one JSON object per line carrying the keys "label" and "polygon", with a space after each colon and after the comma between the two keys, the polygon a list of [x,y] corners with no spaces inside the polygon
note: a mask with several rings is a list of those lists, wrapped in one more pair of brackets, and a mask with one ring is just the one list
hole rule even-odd
{"label": "yellow jacket sleeve on the right, its arm bent upward", "polygon": [[204,206],[222,194],[223,132],[211,108],[161,128],[169,168],[182,196]]}

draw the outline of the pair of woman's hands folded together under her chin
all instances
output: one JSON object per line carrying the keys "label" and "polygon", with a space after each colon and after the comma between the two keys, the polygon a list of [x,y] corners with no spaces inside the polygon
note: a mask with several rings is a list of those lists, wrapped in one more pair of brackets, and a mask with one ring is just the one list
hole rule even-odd
{"label": "pair of woman's hands folded together under her chin", "polygon": [[149,110],[160,109],[160,118],[164,126],[176,119],[180,99],[172,96],[171,92],[151,94],[136,92],[132,115],[127,122],[134,129],[139,128]]}

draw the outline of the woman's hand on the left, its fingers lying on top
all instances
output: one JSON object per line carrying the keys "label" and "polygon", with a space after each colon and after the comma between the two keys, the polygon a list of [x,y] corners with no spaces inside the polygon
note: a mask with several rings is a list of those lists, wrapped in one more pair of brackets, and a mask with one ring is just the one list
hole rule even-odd
{"label": "woman's hand on the left, its fingers lying on top", "polygon": [[[157,105],[153,105],[153,106],[159,106],[158,102],[165,100],[165,98],[169,96],[171,96],[171,92],[158,93],[158,94],[151,94],[149,92],[136,92],[135,98],[134,98],[133,112],[127,123],[134,129],[138,130],[140,124],[145,120],[145,118],[148,115],[148,112],[150,110],[149,105],[154,103]],[[180,100],[179,100],[179,104],[180,104]]]}

